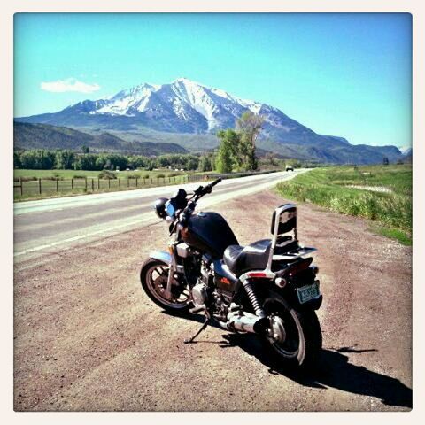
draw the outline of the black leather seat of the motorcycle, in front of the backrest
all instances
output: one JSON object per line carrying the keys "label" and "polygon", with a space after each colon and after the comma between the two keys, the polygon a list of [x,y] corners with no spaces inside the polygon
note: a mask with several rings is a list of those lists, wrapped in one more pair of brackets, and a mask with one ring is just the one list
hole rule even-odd
{"label": "black leather seat of the motorcycle, in front of the backrest", "polygon": [[224,251],[223,260],[237,277],[250,270],[264,270],[271,246],[270,239],[262,239],[247,246],[229,245]]}

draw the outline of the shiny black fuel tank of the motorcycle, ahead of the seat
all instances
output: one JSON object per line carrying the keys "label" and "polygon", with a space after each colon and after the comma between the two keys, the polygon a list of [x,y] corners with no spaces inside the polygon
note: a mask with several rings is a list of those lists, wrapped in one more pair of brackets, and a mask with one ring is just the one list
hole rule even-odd
{"label": "shiny black fuel tank of the motorcycle, ahead of the seat", "polygon": [[182,229],[182,239],[213,259],[222,259],[228,245],[238,244],[228,222],[219,213],[193,214],[188,226]]}

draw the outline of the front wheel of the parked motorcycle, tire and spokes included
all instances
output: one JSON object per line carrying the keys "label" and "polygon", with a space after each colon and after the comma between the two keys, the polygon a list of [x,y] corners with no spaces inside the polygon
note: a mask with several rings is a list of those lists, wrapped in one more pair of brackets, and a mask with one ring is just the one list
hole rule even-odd
{"label": "front wheel of the parked motorcycle, tire and spokes included", "polygon": [[174,279],[172,286],[175,298],[169,300],[161,295],[166,285],[168,270],[169,266],[165,262],[158,259],[147,259],[140,270],[142,288],[151,301],[164,310],[173,313],[188,313],[189,290],[177,279]]}

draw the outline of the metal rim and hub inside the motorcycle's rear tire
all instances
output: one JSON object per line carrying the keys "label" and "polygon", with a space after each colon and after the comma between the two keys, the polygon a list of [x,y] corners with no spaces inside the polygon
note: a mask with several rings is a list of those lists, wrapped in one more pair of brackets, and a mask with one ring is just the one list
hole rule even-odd
{"label": "metal rim and hub inside the motorcycle's rear tire", "polygon": [[295,310],[276,298],[268,298],[264,304],[270,318],[270,335],[267,340],[280,356],[298,359],[305,356],[305,337]]}

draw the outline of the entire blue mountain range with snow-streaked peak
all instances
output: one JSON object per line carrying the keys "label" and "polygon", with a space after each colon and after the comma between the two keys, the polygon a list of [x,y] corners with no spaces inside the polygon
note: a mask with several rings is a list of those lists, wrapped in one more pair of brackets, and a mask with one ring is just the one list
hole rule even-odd
{"label": "entire blue mountain range with snow-streaked peak", "polygon": [[84,100],[59,112],[15,121],[77,128],[91,135],[108,132],[134,143],[173,142],[189,151],[202,151],[217,146],[217,130],[234,128],[246,111],[265,119],[259,147],[282,157],[358,164],[403,158],[396,146],[352,145],[344,137],[319,135],[274,106],[186,78],[162,85],[143,83],[112,97]]}

